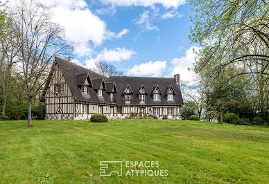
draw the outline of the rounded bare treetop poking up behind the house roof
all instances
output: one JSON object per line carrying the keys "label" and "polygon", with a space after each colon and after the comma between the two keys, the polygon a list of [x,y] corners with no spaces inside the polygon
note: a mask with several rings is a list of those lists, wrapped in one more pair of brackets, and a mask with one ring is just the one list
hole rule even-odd
{"label": "rounded bare treetop poking up behind the house roof", "polygon": [[123,75],[123,73],[121,71],[118,71],[114,65],[105,61],[97,62],[95,71],[107,77],[110,77],[112,75],[114,76]]}

